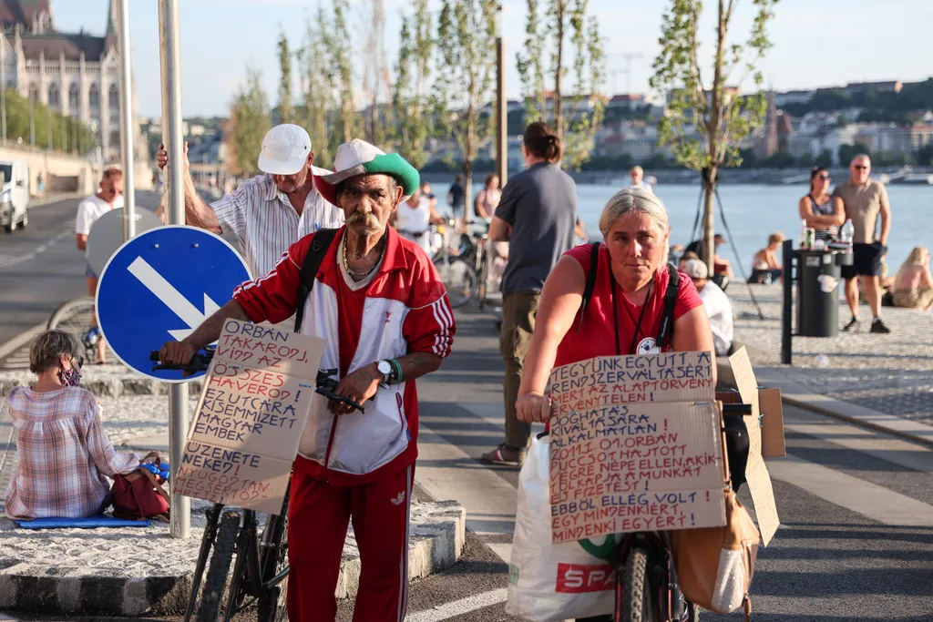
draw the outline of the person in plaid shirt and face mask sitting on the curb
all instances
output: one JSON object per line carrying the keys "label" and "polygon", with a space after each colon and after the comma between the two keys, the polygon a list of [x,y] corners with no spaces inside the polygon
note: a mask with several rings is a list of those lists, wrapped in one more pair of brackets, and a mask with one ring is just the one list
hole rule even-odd
{"label": "person in plaid shirt and face mask sitting on the curb", "polygon": [[100,405],[78,386],[83,350],[71,333],[47,330],[29,349],[38,380],[7,394],[19,459],[7,486],[9,518],[100,514],[109,505],[106,477],[132,473],[142,462],[114,449]]}

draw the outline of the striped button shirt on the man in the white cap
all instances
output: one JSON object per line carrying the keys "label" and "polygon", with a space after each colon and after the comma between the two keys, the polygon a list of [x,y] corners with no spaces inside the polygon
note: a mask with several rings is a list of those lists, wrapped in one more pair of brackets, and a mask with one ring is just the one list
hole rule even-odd
{"label": "striped button shirt on the man in the white cap", "polygon": [[[313,173],[329,172],[314,168]],[[304,200],[299,216],[269,174],[245,181],[211,207],[222,232],[236,235],[240,254],[254,279],[269,273],[288,247],[304,236],[319,228],[343,225],[343,212],[328,203],[317,188]]]}

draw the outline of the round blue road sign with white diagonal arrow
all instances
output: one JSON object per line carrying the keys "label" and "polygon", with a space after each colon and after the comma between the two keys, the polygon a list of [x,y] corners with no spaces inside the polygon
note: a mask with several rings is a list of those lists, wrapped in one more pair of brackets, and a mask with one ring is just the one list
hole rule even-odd
{"label": "round blue road sign with white diagonal arrow", "polygon": [[101,333],[118,359],[139,373],[194,380],[202,374],[152,371],[149,352],[188,337],[249,278],[243,258],[213,233],[179,225],[149,229],[120,246],[101,273]]}

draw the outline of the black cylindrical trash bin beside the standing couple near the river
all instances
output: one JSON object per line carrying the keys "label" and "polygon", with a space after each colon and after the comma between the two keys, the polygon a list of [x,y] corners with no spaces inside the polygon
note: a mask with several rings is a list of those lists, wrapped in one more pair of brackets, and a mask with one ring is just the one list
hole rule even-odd
{"label": "black cylindrical trash bin beside the standing couple near the river", "polygon": [[842,291],[840,266],[850,257],[831,251],[798,251],[797,334],[836,337]]}

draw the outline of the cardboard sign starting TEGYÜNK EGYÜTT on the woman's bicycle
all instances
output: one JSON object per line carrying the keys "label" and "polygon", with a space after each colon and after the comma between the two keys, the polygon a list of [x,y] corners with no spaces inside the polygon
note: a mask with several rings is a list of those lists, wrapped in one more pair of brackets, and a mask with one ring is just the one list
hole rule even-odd
{"label": "cardboard sign starting TEGY\u00dcNK EGY\u00dcTT on the woman's bicycle", "polygon": [[714,388],[703,352],[554,369],[552,542],[725,524]]}

